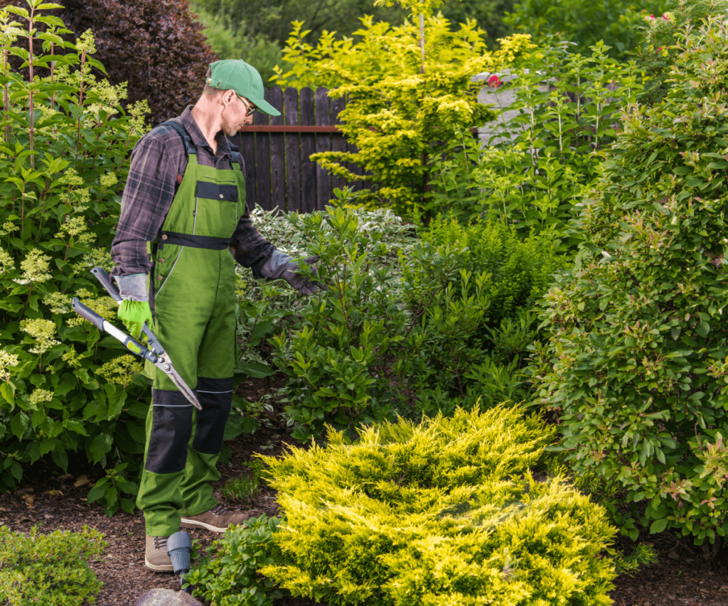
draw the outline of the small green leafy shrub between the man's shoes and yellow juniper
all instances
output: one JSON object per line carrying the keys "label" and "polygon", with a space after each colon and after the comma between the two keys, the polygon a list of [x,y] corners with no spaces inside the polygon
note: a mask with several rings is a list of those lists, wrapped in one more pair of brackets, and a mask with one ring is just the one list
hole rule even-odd
{"label": "small green leafy shrub between the man's shoes and yellow juniper", "polygon": [[184,581],[193,586],[192,595],[215,606],[272,605],[282,592],[258,570],[280,558],[273,541],[279,522],[263,514],[226,530],[184,576]]}

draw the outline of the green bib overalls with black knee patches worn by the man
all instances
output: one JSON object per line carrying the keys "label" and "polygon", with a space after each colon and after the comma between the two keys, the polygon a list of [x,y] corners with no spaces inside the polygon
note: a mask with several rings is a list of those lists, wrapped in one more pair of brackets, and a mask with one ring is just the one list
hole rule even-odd
{"label": "green bib overalls with black knee patches worn by the man", "polygon": [[176,533],[181,515],[217,505],[213,482],[221,477],[216,465],[234,389],[235,262],[228,245],[245,212],[237,153],[232,170],[200,166],[189,134],[165,124],[183,137],[189,163],[151,247],[152,330],[202,410],[147,362],[154,385],[136,504],[151,536]]}

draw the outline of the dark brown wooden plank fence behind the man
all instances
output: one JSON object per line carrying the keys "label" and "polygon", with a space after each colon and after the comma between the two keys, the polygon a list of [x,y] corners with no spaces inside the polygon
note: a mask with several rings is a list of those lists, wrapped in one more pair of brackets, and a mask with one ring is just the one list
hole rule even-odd
{"label": "dark brown wooden plank fence behind the man", "polygon": [[[345,100],[329,99],[328,89],[314,92],[308,87],[300,92],[273,87],[266,89],[265,98],[281,115],[256,111],[253,124],[233,138],[245,159],[248,207],[252,209],[254,201],[264,210],[323,210],[333,189],[347,182],[323,170],[310,156],[321,151],[357,151],[336,128]],[[363,174],[353,164],[344,166],[356,175]],[[355,189],[371,186],[362,181],[351,185]]]}

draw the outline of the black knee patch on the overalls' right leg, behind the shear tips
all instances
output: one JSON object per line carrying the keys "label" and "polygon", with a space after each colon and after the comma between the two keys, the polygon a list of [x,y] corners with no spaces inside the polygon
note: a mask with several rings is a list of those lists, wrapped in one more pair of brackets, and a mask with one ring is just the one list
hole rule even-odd
{"label": "black knee patch on the overalls' right leg, behind the shear tips", "polygon": [[197,378],[197,399],[202,410],[197,411],[197,430],[192,447],[205,455],[217,455],[223,445],[223,434],[232,407],[233,378]]}

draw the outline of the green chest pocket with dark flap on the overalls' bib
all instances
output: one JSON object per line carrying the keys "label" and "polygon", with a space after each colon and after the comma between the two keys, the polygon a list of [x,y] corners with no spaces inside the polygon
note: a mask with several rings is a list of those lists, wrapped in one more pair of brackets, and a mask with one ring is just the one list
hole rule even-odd
{"label": "green chest pocket with dark flap on the overalls' bib", "polygon": [[194,236],[229,238],[238,220],[237,185],[197,181]]}

